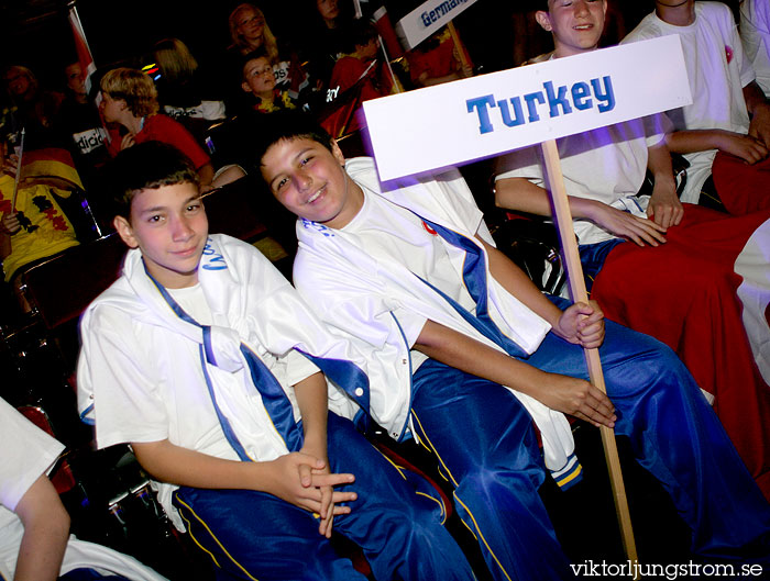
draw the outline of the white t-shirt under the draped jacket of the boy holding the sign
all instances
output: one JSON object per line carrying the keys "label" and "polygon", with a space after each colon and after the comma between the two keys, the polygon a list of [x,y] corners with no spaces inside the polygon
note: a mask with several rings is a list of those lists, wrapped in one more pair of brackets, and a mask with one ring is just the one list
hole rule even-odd
{"label": "white t-shirt under the draped jacket of the boy holding the sign", "polygon": [[[475,302],[463,284],[458,284],[457,270],[452,266],[443,238],[415,213],[373,194],[366,188],[364,203],[355,217],[342,228],[358,237],[361,248],[370,256],[391,257],[399,260],[422,280],[430,282],[444,294],[475,313]],[[426,317],[403,306],[393,311],[407,343],[417,340]],[[411,368],[416,370],[428,356],[411,350]]]}

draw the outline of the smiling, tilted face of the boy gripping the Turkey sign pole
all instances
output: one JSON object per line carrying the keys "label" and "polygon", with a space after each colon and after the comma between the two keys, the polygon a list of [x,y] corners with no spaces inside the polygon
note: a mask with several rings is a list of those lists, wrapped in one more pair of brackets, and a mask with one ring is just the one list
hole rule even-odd
{"label": "smiling, tilted face of the boy gripping the Turkey sign pole", "polygon": [[312,139],[282,139],[263,156],[262,177],[273,195],[299,217],[341,228],[363,204],[363,192],[343,164],[336,143],[330,152]]}

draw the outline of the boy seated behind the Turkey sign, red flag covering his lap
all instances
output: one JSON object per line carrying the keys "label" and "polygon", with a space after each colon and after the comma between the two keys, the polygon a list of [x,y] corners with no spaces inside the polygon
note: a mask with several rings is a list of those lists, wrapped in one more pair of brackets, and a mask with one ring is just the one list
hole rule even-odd
{"label": "boy seated behind the Turkey sign, red flag covering his lap", "polygon": [[[605,2],[543,8],[537,18],[553,34],[556,58],[596,48]],[[666,135],[656,126],[664,121],[558,139],[581,260],[604,313],[675,349],[715,396],[725,429],[770,498],[770,361],[762,353],[770,267],[761,253],[770,212],[733,217],[681,203]],[[647,168],[654,187],[638,197]],[[551,214],[537,149],[501,158],[496,180],[497,205]]]}

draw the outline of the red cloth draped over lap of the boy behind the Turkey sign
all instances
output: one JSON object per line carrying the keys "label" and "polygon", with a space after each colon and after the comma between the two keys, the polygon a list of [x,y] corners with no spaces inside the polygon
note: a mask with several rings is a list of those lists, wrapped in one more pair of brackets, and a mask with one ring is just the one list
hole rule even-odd
{"label": "red cloth draped over lap of the boy behind the Turkey sign", "polygon": [[[669,228],[666,245],[625,243],[613,249],[592,298],[608,319],[676,351],[714,394],[727,434],[770,499],[770,388],[744,327],[745,306],[736,294],[744,279],[734,269],[746,242],[768,219],[770,211],[734,217],[685,204],[684,220]],[[761,317],[767,321],[763,311]]]}

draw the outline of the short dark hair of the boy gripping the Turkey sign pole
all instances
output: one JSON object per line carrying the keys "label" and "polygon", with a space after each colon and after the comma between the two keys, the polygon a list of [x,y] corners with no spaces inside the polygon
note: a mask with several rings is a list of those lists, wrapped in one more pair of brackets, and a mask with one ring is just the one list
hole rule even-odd
{"label": "short dark hair of the boy gripping the Turkey sign pole", "polygon": [[277,111],[267,115],[253,115],[248,131],[252,136],[251,166],[260,171],[262,158],[273,144],[282,141],[310,139],[332,150],[333,139],[307,113],[299,111]]}

